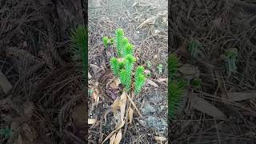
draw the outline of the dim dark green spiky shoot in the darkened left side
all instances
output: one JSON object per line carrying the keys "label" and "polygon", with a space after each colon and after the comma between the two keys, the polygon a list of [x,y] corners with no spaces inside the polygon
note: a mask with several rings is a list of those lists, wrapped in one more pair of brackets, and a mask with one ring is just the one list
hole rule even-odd
{"label": "dim dark green spiky shoot in the darkened left side", "polygon": [[87,44],[88,34],[86,26],[78,26],[71,33],[71,52],[73,54],[74,61],[82,62],[82,72],[84,78],[87,78]]}

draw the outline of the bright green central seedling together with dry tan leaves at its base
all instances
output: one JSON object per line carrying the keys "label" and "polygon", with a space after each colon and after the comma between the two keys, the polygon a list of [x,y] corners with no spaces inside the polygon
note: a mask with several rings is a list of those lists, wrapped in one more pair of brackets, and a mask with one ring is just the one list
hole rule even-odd
{"label": "bright green central seedling together with dry tan leaves at its base", "polygon": [[[136,62],[136,58],[134,58],[134,45],[129,42],[128,38],[124,37],[122,29],[115,31],[114,40],[117,48],[116,56],[110,58],[110,67],[114,76],[118,79],[117,82],[121,82],[123,90],[121,96],[115,99],[111,106],[114,114],[116,110],[120,110],[119,122],[116,129],[110,133],[103,142],[113,134],[114,137],[111,137],[115,139],[113,142],[119,143],[121,138],[118,138],[118,136],[115,138],[115,135],[122,135],[122,127],[125,124],[127,126],[128,123],[132,123],[133,109],[137,110],[138,114],[142,116],[132,101],[132,98],[134,95],[138,96],[141,92],[142,86],[144,86],[146,82],[146,74],[143,66],[137,66],[134,69]],[[107,44],[106,38],[103,38],[103,42],[104,45]],[[129,106],[127,105],[127,99],[130,101]],[[129,115],[129,119],[125,115]]]}

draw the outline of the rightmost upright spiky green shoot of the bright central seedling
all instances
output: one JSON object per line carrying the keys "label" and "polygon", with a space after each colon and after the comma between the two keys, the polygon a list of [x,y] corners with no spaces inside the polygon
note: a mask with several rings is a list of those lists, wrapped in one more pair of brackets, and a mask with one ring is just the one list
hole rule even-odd
{"label": "rightmost upright spiky green shoot of the bright central seedling", "polygon": [[142,90],[142,86],[145,85],[146,77],[144,74],[144,67],[138,66],[138,68],[135,71],[135,82],[134,82],[134,93],[135,95],[139,94],[139,92]]}

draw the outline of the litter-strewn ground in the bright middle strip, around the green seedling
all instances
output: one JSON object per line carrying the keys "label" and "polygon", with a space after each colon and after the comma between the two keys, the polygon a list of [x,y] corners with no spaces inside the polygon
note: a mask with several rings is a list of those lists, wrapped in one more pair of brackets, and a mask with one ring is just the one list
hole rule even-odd
{"label": "litter-strewn ground in the bright middle strip, around the green seedling", "polygon": [[[114,54],[112,47],[105,50],[102,38],[114,38],[114,32],[118,28],[124,30],[125,36],[134,45],[138,65],[144,66],[151,74],[142,94],[134,98],[143,117],[140,118],[134,112],[132,124],[124,126],[126,133],[121,143],[155,143],[154,136],[167,137],[167,82],[159,80],[167,78],[167,1],[91,0],[88,13],[89,72],[92,76],[89,86],[90,89],[97,88],[100,91],[99,102],[91,100],[89,104],[90,118],[98,119],[99,122],[90,127],[90,142],[102,142],[115,126],[116,120],[111,112],[112,98],[120,95],[113,96],[109,90],[110,82],[114,79],[109,61]],[[147,65],[148,62],[150,66]],[[161,74],[157,68],[159,64],[162,64]],[[96,82],[98,86],[94,85]],[[93,96],[92,94],[91,97]],[[154,103],[149,97],[162,98],[162,101]],[[148,107],[152,108],[151,111],[148,111]],[[105,121],[102,117],[106,113]]]}

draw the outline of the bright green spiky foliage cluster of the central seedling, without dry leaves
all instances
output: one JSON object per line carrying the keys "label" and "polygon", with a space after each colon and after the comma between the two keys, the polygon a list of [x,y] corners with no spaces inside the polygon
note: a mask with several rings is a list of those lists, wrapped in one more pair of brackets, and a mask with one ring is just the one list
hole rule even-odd
{"label": "bright green spiky foliage cluster of the central seedling, without dry leaves", "polygon": [[137,95],[146,82],[144,67],[138,66],[134,71],[134,64],[136,62],[136,58],[134,58],[134,45],[129,42],[128,38],[124,37],[122,29],[116,30],[115,42],[118,57],[110,59],[111,70],[114,76],[119,78],[126,92],[134,91],[134,94]]}

